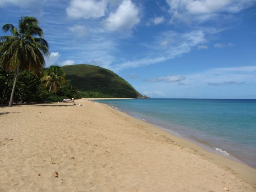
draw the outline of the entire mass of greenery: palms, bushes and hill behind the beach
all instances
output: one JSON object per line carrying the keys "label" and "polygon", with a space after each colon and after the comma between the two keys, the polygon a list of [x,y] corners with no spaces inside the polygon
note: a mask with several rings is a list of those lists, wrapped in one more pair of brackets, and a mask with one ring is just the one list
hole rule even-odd
{"label": "entire mass of greenery: palms, bushes and hill behind the beach", "polygon": [[[5,24],[0,37],[0,103],[56,102],[67,98],[146,98],[108,69],[79,64],[44,69],[49,56],[43,30],[33,17],[21,17],[18,28]],[[10,99],[9,99],[10,98]]]}

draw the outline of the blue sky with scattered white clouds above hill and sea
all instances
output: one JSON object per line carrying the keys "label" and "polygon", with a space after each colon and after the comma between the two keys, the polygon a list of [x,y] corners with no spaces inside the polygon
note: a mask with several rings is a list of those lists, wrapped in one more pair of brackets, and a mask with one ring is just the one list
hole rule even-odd
{"label": "blue sky with scattered white clouds above hill and sea", "polygon": [[98,65],[151,98],[256,99],[256,0],[0,0],[0,26],[21,16],[47,67]]}

